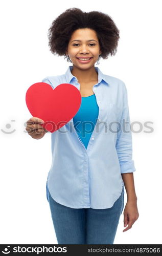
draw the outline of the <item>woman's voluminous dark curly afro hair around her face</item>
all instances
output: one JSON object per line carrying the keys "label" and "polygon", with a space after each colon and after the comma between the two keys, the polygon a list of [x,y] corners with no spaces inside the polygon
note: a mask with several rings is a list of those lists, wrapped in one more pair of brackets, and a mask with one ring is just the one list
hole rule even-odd
{"label": "woman's voluminous dark curly afro hair around her face", "polygon": [[48,31],[50,51],[54,55],[64,55],[68,62],[72,62],[65,51],[73,32],[82,28],[96,31],[102,52],[98,60],[101,57],[107,59],[109,54],[115,55],[120,36],[111,17],[103,12],[83,12],[78,8],[67,9],[52,22]]}

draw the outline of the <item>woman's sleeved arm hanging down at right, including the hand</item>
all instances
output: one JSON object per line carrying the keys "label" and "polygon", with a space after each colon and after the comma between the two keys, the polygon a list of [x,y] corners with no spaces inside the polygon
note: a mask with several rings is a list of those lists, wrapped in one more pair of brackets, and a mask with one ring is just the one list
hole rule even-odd
{"label": "woman's sleeved arm hanging down at right, including the hand", "polygon": [[127,203],[124,209],[124,227],[127,231],[137,220],[139,214],[137,209],[137,197],[135,194],[133,172],[135,171],[132,160],[132,136],[128,108],[127,89],[123,83],[123,111],[120,120],[120,129],[117,134],[117,154],[121,167],[121,175],[127,192]]}

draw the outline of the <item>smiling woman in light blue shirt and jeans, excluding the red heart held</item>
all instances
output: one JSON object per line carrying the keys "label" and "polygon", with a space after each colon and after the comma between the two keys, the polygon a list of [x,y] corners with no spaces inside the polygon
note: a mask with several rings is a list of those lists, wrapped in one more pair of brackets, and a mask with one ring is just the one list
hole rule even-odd
{"label": "smiling woman in light blue shirt and jeans, excluding the red heart held", "polygon": [[[58,244],[113,244],[124,207],[127,231],[137,220],[132,138],[127,90],[95,63],[117,51],[119,30],[104,13],[67,9],[49,29],[53,54],[73,63],[63,75],[42,81],[55,89],[73,84],[81,93],[77,114],[52,133],[52,165],[47,199]],[[26,130],[34,139],[47,133],[32,117]]]}

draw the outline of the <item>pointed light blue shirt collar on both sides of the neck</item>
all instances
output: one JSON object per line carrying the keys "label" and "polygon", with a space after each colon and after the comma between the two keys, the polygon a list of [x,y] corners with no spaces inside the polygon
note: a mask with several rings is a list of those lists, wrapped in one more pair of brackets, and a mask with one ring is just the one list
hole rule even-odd
{"label": "pointed light blue shirt collar on both sides of the neck", "polygon": [[[68,83],[71,83],[72,79],[75,79],[78,82],[78,79],[76,76],[74,76],[71,72],[71,70],[73,69],[73,66],[69,66],[66,73],[65,73],[65,77],[66,77],[66,81]],[[95,67],[96,71],[98,72],[98,80],[99,83],[104,80],[106,82],[107,85],[109,85],[108,82],[108,77],[106,75],[104,75],[101,70],[98,67]]]}

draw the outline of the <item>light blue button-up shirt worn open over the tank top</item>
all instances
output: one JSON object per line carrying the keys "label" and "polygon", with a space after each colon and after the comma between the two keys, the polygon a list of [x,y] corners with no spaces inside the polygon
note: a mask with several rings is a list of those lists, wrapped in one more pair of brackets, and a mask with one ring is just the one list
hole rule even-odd
{"label": "light blue button-up shirt worn open over the tank top", "polygon": [[[80,90],[72,69],[70,66],[65,74],[45,77],[42,82],[53,89],[71,83]],[[71,208],[112,207],[124,186],[121,174],[135,171],[125,83],[95,69],[98,83],[92,90],[99,115],[87,148],[75,130],[73,118],[51,134],[48,188],[56,202]]]}

